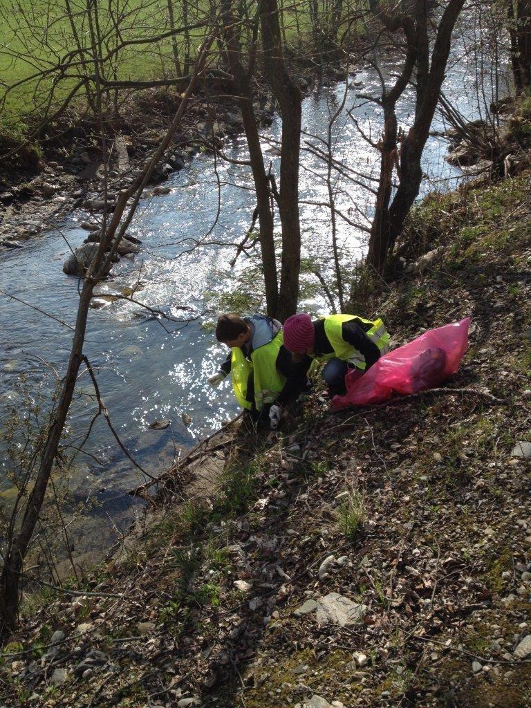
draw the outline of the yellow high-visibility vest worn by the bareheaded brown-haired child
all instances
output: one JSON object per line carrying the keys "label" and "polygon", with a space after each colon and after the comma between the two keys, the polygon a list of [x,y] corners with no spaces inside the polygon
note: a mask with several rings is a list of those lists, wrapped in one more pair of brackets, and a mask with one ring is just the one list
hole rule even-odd
{"label": "yellow high-visibility vest worn by the bareheaded brown-haired child", "polygon": [[276,367],[282,341],[282,331],[280,331],[270,342],[253,350],[251,360],[246,358],[241,348],[232,348],[232,390],[240,406],[248,409],[253,407],[251,401],[247,400],[247,382],[251,372],[253,372],[256,410],[261,411],[265,404],[273,403],[277,399],[286,382],[285,376],[282,376]]}

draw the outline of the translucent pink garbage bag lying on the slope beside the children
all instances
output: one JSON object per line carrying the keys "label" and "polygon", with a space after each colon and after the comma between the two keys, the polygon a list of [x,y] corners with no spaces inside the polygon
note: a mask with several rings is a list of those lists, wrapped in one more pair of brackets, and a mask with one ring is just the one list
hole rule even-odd
{"label": "translucent pink garbage bag lying on the slope beside the children", "polygon": [[334,396],[333,408],[367,406],[393,394],[414,394],[438,386],[455,374],[468,346],[470,318],[430,329],[412,342],[382,356],[362,377],[346,375],[345,396]]}

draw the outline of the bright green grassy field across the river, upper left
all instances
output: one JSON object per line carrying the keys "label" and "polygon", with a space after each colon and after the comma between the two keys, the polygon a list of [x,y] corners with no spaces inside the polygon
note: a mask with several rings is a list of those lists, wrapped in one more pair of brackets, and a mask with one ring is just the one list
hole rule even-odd
{"label": "bright green grassy field across the river, upper left", "polygon": [[[69,18],[66,6],[72,11]],[[0,76],[4,89],[24,79],[30,79],[42,70],[57,66],[67,52],[78,47],[90,46],[91,25],[84,2],[74,0],[68,4],[55,4],[48,0],[20,0],[18,3],[0,0]],[[181,25],[181,4],[175,4],[175,22]],[[101,3],[98,16],[93,14],[92,25],[99,26],[101,54],[113,52],[118,38],[115,30],[119,24],[122,42],[131,42],[156,36],[169,30],[166,0],[125,0],[110,4]],[[195,22],[195,18],[190,18]],[[190,38],[192,47],[200,42],[202,30],[194,30]],[[179,38],[178,50],[183,57],[183,40]],[[127,45],[120,49],[112,61],[105,62],[109,79],[142,80],[161,78],[175,73],[170,39],[149,44]],[[13,128],[21,116],[36,110],[42,112],[52,96],[52,103],[59,103],[79,81],[80,67],[72,67],[65,76],[57,72],[41,79],[31,79],[8,91],[4,105],[0,106],[1,123]],[[91,74],[92,67],[86,67]]]}

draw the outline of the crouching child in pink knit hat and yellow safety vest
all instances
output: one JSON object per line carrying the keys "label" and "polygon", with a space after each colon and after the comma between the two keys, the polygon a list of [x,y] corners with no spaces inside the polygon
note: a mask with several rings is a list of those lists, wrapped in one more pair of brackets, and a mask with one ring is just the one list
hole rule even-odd
{"label": "crouching child in pink knit hat and yellow safety vest", "polygon": [[284,346],[307,369],[312,360],[325,361],[323,378],[330,396],[346,393],[345,377],[359,375],[389,351],[389,334],[381,319],[352,314],[330,314],[312,321],[309,314],[295,314],[284,323]]}

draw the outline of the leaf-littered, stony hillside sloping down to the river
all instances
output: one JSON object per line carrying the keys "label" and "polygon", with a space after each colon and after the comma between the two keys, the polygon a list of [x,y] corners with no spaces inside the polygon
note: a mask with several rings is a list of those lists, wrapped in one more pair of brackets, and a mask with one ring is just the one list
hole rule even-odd
{"label": "leaf-littered, stony hillside sloping down to the river", "polygon": [[212,439],[86,587],[28,597],[4,704],[531,705],[530,181],[429,198],[360,292],[393,346],[472,318],[457,392]]}

